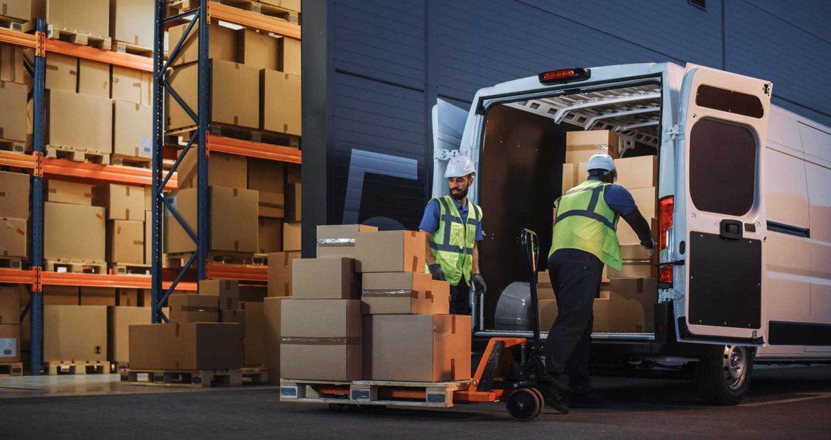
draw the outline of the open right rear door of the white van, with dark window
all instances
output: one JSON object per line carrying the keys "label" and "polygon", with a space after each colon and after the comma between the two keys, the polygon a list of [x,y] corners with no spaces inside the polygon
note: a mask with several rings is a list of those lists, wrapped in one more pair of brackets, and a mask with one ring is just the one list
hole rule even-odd
{"label": "open right rear door of the white van, with dark window", "polygon": [[678,158],[672,233],[672,253],[682,261],[674,271],[678,340],[765,343],[762,173],[771,89],[769,81],[686,66],[678,124],[669,130]]}

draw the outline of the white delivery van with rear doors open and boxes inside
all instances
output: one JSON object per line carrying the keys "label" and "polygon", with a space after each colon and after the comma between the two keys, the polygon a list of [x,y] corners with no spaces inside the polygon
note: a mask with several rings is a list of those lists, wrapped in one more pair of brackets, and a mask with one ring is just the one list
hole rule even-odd
{"label": "white delivery van with rear doors open and boxes inside", "polygon": [[[706,399],[735,404],[753,363],[831,360],[831,128],[770,105],[772,92],[665,63],[543,72],[479,90],[470,110],[440,100],[433,194],[447,159],[473,159],[480,266],[499,295],[528,279],[522,228],[548,255],[568,131],[613,130],[622,157],[656,155],[654,325],[595,332],[593,362],[689,372]],[[494,330],[493,298],[472,302],[475,338],[529,335]]]}

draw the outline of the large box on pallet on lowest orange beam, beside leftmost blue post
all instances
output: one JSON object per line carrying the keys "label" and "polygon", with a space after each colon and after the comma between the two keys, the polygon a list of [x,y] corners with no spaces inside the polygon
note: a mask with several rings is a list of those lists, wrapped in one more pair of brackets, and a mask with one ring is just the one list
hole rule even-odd
{"label": "large box on pallet on lowest orange beam, beside leftmost blue post", "polygon": [[53,202],[43,205],[44,258],[106,261],[104,208]]}

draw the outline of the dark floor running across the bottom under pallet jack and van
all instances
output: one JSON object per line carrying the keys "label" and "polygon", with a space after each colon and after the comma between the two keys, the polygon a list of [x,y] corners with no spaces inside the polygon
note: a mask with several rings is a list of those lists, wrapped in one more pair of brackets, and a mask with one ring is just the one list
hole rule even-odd
{"label": "dark floor running across the bottom under pallet jack and van", "polygon": [[[329,411],[274,387],[180,389],[115,375],[0,379],[0,438],[829,438],[831,366],[758,368],[750,396],[711,407],[681,380],[602,377],[607,408],[515,423],[499,403]],[[42,397],[49,398],[42,398]]]}

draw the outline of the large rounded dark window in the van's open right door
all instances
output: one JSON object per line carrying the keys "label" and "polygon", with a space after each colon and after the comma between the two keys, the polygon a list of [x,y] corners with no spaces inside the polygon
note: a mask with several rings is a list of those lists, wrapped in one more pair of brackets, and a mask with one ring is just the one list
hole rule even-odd
{"label": "large rounded dark window in the van's open right door", "polygon": [[755,198],[756,139],[740,125],[700,120],[690,133],[690,195],[696,208],[741,216]]}

